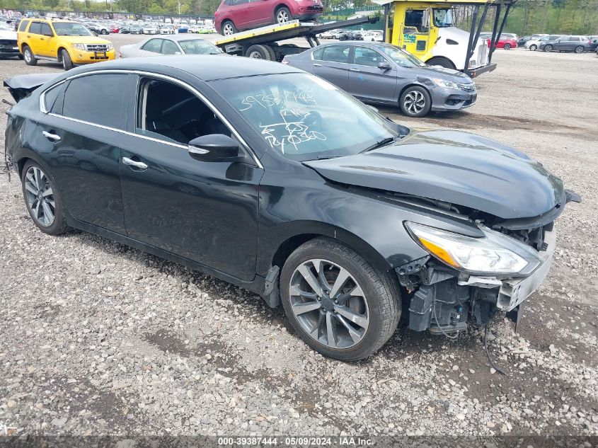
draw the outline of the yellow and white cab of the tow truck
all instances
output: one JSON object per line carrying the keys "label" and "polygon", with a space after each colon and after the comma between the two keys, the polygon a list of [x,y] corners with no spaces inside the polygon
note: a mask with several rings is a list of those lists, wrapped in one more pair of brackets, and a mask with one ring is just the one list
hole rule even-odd
{"label": "yellow and white cab of the tow truck", "polygon": [[[373,1],[385,8],[385,42],[403,47],[426,64],[464,71],[470,76],[496,67],[491,63],[492,52],[487,40],[479,38],[488,8],[495,8],[493,32],[498,36],[497,28],[502,31],[513,3],[507,0]],[[471,6],[469,32],[454,25],[453,9],[459,5]],[[505,6],[505,14],[500,21],[502,6]]]}

